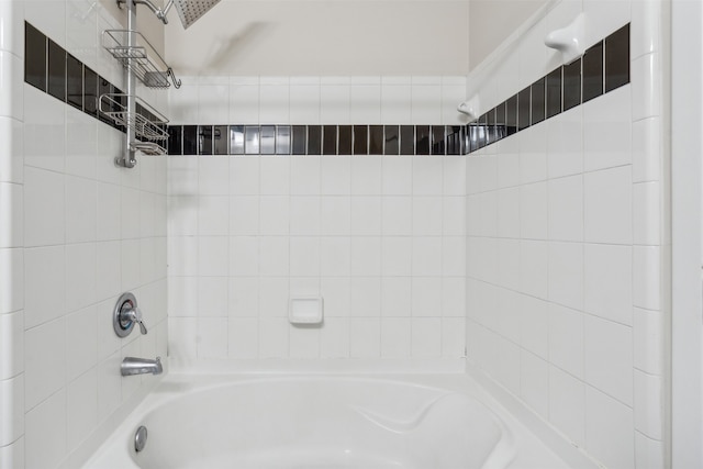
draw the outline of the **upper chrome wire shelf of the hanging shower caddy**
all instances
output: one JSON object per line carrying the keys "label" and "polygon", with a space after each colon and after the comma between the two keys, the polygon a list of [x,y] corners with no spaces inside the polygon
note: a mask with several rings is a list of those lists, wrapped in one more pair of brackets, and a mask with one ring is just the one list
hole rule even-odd
{"label": "upper chrome wire shelf of the hanging shower caddy", "polygon": [[[136,45],[130,45],[130,35]],[[102,46],[146,87],[168,88],[170,77],[174,86],[180,88],[181,81],[174,75],[174,69],[138,31],[105,30],[102,32]]]}

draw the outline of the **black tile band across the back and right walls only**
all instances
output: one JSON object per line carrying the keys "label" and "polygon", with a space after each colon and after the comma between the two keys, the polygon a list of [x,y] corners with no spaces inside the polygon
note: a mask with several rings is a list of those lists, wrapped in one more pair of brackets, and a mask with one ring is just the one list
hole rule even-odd
{"label": "black tile band across the back and right walls only", "polygon": [[629,24],[467,125],[171,125],[169,155],[469,155],[629,82]]}

